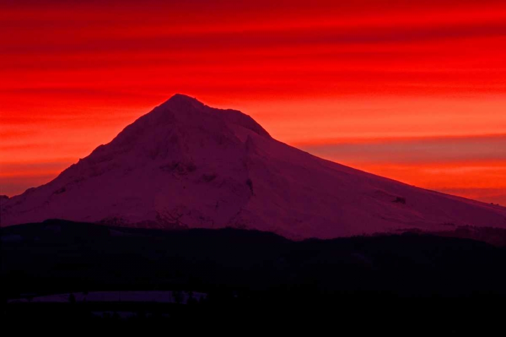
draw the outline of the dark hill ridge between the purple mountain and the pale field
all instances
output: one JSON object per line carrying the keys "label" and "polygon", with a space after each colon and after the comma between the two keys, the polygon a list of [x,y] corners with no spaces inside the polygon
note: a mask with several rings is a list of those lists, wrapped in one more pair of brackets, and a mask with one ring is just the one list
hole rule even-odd
{"label": "dark hill ridge between the purple mountain and the pale field", "polygon": [[403,234],[290,241],[234,229],[159,231],[50,220],[2,229],[2,282],[21,293],[184,288],[506,294],[506,251]]}

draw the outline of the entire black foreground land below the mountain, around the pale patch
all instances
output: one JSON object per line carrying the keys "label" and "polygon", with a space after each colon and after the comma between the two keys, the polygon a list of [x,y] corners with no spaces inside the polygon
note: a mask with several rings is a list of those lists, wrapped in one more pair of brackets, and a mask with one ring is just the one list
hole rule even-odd
{"label": "entire black foreground land below the mountain, around the pale patch", "polygon": [[[275,324],[479,333],[503,329],[506,317],[506,249],[469,239],[403,234],[293,242],[257,231],[157,231],[62,220],[2,228],[1,234],[4,327],[65,321],[242,329],[237,332]],[[73,295],[64,303],[31,301],[135,290],[207,296],[186,304],[83,302]],[[13,301],[19,298],[24,302]],[[125,312],[132,315],[118,314]]]}

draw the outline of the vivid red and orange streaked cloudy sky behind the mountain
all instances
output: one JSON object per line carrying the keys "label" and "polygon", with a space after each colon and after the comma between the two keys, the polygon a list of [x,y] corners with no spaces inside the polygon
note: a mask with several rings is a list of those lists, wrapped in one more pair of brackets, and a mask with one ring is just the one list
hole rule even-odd
{"label": "vivid red and orange streaked cloudy sky behind the mountain", "polygon": [[356,168],[506,205],[504,1],[0,2],[0,194],[174,93]]}

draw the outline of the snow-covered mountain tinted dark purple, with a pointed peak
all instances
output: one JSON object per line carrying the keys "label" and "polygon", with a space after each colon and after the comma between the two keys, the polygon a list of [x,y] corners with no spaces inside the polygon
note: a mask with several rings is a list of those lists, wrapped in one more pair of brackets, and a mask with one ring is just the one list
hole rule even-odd
{"label": "snow-covered mountain tinted dark purple, with a pointed peak", "polygon": [[61,218],[258,229],[291,239],[506,229],[506,208],[320,159],[240,111],[180,94],[51,182],[0,202],[2,226]]}

